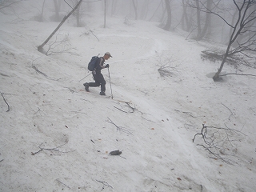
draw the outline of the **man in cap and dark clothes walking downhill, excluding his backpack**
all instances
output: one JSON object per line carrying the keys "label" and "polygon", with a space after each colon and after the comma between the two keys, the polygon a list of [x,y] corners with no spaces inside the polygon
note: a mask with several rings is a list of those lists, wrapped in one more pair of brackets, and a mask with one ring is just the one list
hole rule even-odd
{"label": "man in cap and dark clothes walking downhill, excluding his backpack", "polygon": [[106,95],[105,91],[106,91],[106,81],[102,75],[101,70],[104,68],[109,68],[110,65],[106,64],[104,66],[104,62],[109,59],[112,58],[110,52],[106,52],[106,54],[104,54],[103,57],[98,58],[98,61],[95,63],[95,69],[92,72],[93,76],[94,76],[94,81],[95,82],[86,82],[83,84],[83,86],[85,86],[86,91],[90,91],[89,87],[96,87],[96,86],[101,86],[101,92],[99,93],[100,95]]}

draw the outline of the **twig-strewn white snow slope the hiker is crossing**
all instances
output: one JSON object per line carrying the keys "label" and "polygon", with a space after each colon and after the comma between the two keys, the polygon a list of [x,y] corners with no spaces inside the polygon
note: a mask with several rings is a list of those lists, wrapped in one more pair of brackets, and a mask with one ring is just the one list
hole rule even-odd
{"label": "twig-strewn white snow slope the hiker is crossing", "polygon": [[[219,62],[200,58],[213,43],[158,23],[107,18],[103,28],[87,18],[77,28],[70,18],[56,35],[68,35],[73,54],[46,56],[37,46],[58,23],[27,14],[0,15],[1,191],[255,191],[255,78],[214,82]],[[82,84],[92,81],[90,58],[106,51],[102,97]],[[238,130],[217,142],[222,159],[197,146],[202,135],[192,142],[202,124]]]}

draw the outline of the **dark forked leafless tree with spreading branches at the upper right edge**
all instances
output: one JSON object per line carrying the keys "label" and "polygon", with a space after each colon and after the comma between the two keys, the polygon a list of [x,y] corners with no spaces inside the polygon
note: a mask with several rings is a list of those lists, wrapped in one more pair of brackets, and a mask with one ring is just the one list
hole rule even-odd
{"label": "dark forked leafless tree with spreading branches at the upper right edge", "polygon": [[213,78],[215,81],[219,79],[219,74],[222,72],[226,58],[230,55],[240,53],[248,56],[248,52],[256,52],[256,0],[233,0],[233,2],[236,11],[238,11],[238,14],[234,14],[233,25],[223,18],[221,14],[218,14],[218,12],[208,10],[210,14],[215,14],[222,18],[232,30],[221,66],[218,68],[217,73],[214,74]]}

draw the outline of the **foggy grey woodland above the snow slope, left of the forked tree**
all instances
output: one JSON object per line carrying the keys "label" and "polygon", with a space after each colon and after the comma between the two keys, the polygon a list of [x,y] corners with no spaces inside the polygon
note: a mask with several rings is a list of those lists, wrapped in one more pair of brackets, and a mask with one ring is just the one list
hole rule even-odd
{"label": "foggy grey woodland above the snow slope, left of the forked tree", "polygon": [[[2,0],[0,7],[3,14],[17,14],[18,10],[21,11],[21,14],[17,14],[17,19],[22,19],[23,11],[31,12],[31,19],[38,22],[61,22],[77,3],[78,0]],[[200,15],[198,6],[202,9]],[[90,27],[85,22],[90,17],[102,18],[102,26],[105,27],[109,17],[122,18],[127,25],[132,25],[133,20],[158,22],[159,27],[182,34],[187,39],[226,44],[230,37],[230,26],[216,15],[206,13],[206,6],[210,6],[210,10],[222,15],[230,23],[237,14],[231,0],[86,0],[82,1],[71,17],[76,18],[74,25],[78,27]]]}

